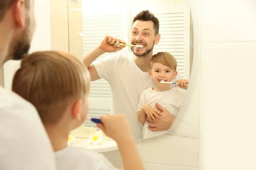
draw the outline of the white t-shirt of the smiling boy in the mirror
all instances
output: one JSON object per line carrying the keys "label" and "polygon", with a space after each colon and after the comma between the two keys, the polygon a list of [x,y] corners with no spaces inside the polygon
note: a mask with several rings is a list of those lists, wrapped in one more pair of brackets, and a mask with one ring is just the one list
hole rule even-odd
{"label": "white t-shirt of the smiling boy in the mirror", "polygon": [[[169,91],[154,91],[152,88],[148,88],[140,96],[138,104],[138,110],[140,111],[143,105],[150,105],[157,109],[155,104],[158,103],[163,108],[166,108],[172,116],[177,116],[181,105],[183,104],[186,90],[179,87],[174,87]],[[157,109],[158,110],[158,109]],[[159,110],[158,110],[159,111]],[[143,139],[167,133],[164,131],[152,131],[148,129],[148,124],[145,122],[143,126]]]}

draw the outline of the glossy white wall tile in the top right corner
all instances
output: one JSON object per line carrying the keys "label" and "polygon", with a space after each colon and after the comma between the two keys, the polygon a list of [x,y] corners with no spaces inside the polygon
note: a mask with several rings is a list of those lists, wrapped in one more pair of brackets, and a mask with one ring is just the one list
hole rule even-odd
{"label": "glossy white wall tile in the top right corner", "polygon": [[202,42],[256,41],[255,0],[202,0]]}

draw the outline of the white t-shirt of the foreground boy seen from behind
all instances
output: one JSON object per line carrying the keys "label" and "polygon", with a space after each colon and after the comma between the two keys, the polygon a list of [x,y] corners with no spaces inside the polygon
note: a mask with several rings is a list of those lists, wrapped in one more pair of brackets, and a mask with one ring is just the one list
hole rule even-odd
{"label": "white t-shirt of the foreground boy seen from behind", "polygon": [[55,152],[58,170],[114,170],[113,165],[99,153],[82,147],[68,146]]}

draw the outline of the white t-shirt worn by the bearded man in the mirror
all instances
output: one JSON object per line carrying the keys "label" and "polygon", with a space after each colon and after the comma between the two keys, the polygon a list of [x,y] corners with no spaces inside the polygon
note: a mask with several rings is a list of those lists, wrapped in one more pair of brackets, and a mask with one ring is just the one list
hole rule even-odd
{"label": "white t-shirt worn by the bearded man in the mirror", "polygon": [[134,139],[142,139],[143,125],[137,119],[137,107],[142,92],[154,86],[148,72],[140,70],[132,52],[113,54],[93,62],[93,65],[99,77],[111,86],[111,113],[125,115]]}

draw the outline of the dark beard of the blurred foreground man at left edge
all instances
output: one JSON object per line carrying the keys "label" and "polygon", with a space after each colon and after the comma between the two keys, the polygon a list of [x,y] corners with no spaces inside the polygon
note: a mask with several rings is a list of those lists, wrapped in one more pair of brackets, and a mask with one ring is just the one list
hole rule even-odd
{"label": "dark beard of the blurred foreground man at left edge", "polygon": [[20,37],[15,40],[12,47],[12,54],[9,55],[9,59],[19,60],[26,56],[30,48],[29,42],[29,22],[26,22],[26,27]]}

